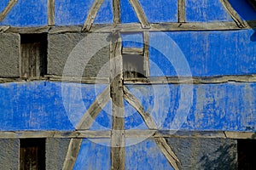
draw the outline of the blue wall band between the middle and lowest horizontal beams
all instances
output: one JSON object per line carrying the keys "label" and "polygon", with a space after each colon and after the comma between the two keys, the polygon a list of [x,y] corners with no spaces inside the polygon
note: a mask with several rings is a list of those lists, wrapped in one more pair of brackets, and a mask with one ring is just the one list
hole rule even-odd
{"label": "blue wall band between the middle and lowest horizontal beams", "polygon": [[[0,129],[74,130],[105,85],[18,82],[0,85]],[[255,131],[256,83],[129,85],[159,129]],[[90,129],[110,129],[111,103]],[[125,102],[125,128],[147,129]]]}

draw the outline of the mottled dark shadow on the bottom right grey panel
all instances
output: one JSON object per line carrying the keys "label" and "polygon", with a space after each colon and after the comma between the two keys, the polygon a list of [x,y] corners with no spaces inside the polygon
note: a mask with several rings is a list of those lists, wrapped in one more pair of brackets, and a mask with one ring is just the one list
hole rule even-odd
{"label": "mottled dark shadow on the bottom right grey panel", "polygon": [[[204,169],[225,169],[232,170],[237,169],[236,153],[232,150],[236,148],[236,144],[227,144],[218,147],[218,150],[214,151],[211,155],[205,155],[201,157],[201,167]],[[212,160],[212,155],[218,155]]]}

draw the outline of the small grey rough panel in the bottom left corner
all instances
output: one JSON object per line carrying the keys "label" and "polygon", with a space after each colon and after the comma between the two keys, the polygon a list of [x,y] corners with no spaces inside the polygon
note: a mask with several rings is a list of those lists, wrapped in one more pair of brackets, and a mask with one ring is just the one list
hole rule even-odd
{"label": "small grey rough panel in the bottom left corner", "polygon": [[19,169],[19,139],[0,139],[0,169]]}

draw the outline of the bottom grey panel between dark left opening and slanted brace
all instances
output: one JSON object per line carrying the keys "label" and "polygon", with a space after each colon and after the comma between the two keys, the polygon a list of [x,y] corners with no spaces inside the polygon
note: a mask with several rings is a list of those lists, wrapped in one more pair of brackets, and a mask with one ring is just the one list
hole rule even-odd
{"label": "bottom grey panel between dark left opening and slanted brace", "polygon": [[70,139],[46,139],[45,157],[47,170],[61,170],[67,155],[69,142]]}

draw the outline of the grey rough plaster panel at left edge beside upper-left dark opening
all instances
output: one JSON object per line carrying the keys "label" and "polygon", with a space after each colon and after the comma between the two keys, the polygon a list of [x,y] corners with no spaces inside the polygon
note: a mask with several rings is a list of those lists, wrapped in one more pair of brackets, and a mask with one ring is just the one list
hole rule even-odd
{"label": "grey rough plaster panel at left edge beside upper-left dark opening", "polygon": [[0,33],[0,77],[20,77],[20,35]]}

